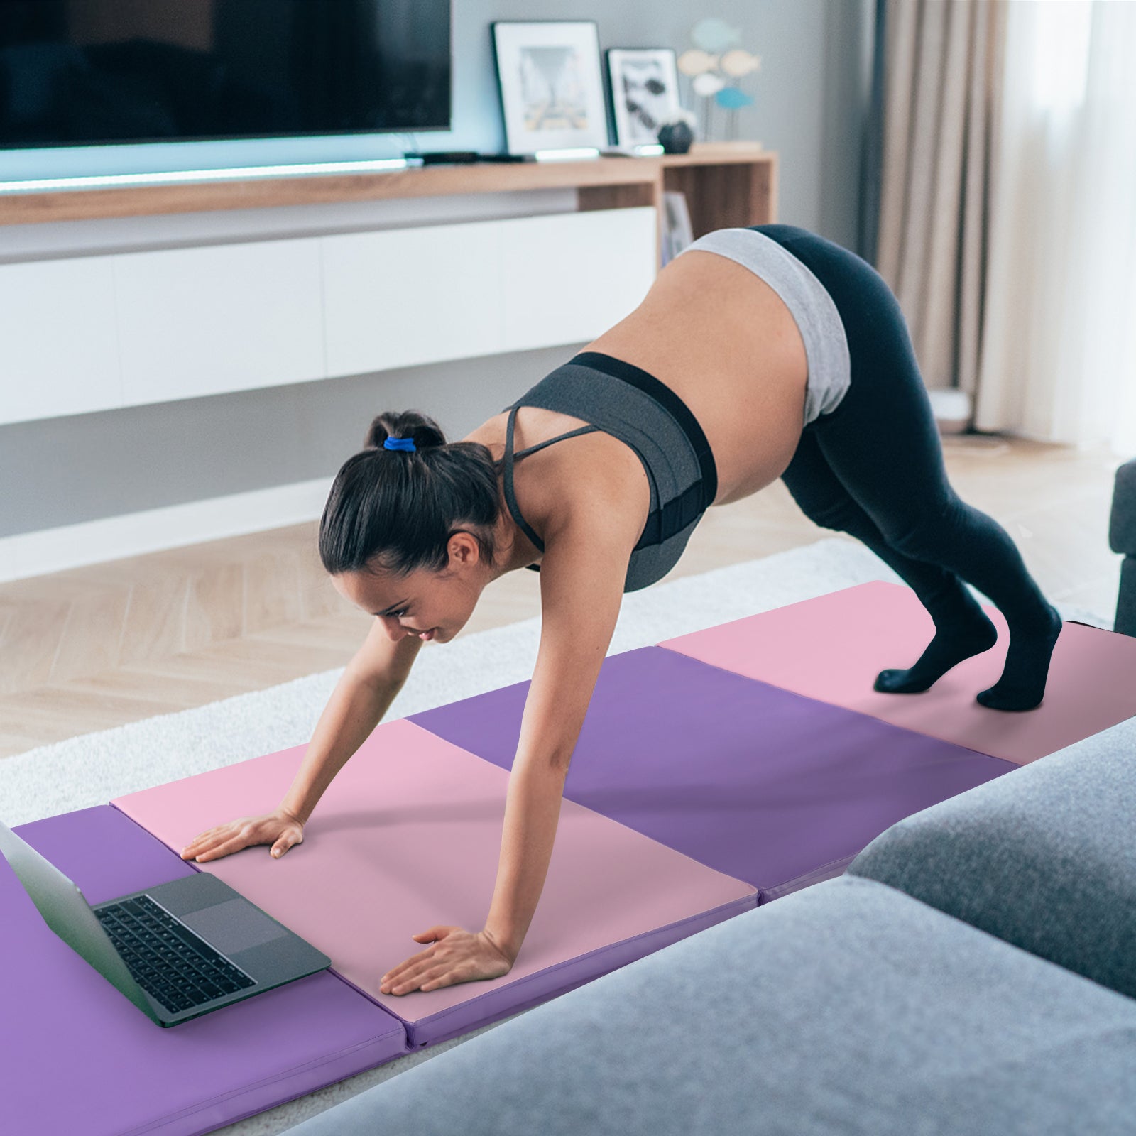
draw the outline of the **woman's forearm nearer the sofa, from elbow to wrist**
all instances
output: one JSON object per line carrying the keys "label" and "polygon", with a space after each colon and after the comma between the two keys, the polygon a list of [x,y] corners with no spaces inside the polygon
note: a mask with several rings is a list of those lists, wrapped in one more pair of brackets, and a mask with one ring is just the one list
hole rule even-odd
{"label": "woman's forearm nearer the sofa, from elbow to wrist", "polygon": [[533,921],[552,859],[567,767],[548,760],[513,765],[506,796],[496,886],[485,934],[516,960]]}

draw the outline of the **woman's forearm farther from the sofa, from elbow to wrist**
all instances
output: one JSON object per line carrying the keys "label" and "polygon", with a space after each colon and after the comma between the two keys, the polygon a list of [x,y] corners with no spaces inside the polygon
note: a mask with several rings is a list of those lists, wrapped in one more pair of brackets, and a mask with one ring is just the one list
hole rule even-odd
{"label": "woman's forearm farther from the sofa, from elbow to wrist", "polygon": [[402,685],[368,683],[353,677],[350,670],[344,671],[319,716],[303,765],[281,808],[307,824],[316,802],[351,754],[370,736]]}

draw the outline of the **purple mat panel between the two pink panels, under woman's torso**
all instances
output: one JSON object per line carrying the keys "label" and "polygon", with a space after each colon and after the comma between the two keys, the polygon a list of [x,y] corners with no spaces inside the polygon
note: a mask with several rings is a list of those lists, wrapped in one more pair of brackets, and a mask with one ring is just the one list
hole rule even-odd
{"label": "purple mat panel between the two pink panels, under woman's torso", "polygon": [[[527,692],[518,683],[410,720],[509,769]],[[745,880],[765,903],[1016,768],[650,646],[604,661],[565,795]]]}

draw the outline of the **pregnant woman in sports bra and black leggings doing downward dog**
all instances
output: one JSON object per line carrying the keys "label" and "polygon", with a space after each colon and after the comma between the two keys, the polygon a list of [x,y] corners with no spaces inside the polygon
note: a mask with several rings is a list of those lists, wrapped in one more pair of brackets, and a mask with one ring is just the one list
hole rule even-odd
{"label": "pregnant woman in sports bra and black leggings doing downward dog", "polygon": [[949,485],[883,278],[801,228],[695,241],[630,316],[462,442],[445,444],[429,419],[406,414],[375,419],[367,445],[335,479],[319,549],[336,588],[375,624],[281,807],[202,833],[182,855],[207,861],[251,844],[281,855],[300,843],[423,642],[453,638],[491,580],[538,568],[540,651],[488,917],[476,933],[416,935],[429,945],[383,976],[384,993],[511,969],[621,594],[663,576],[711,504],[780,477],[808,517],[851,533],[910,584],[935,636],[913,666],[882,671],[877,691],[925,691],[994,644],[967,580],[1010,628],[1002,676],[978,702],[1016,711],[1042,700],[1058,611],[1004,529]]}

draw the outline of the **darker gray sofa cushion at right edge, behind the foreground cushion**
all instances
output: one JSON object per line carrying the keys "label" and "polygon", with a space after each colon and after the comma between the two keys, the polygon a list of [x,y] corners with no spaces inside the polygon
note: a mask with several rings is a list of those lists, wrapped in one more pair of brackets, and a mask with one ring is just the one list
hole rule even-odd
{"label": "darker gray sofa cushion at right edge, behind the foreground cushion", "polygon": [[1136,719],[908,817],[847,870],[1136,996]]}

